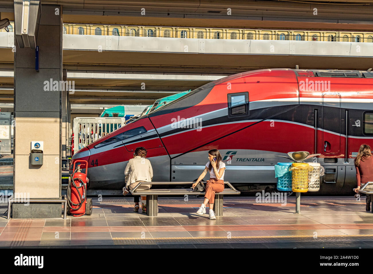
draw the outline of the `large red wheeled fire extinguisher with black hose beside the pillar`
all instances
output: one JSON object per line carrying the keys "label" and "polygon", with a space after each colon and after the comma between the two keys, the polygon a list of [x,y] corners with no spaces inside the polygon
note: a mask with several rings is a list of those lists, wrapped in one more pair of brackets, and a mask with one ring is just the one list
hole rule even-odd
{"label": "large red wheeled fire extinguisher with black hose beside the pillar", "polygon": [[[78,164],[78,167],[75,169],[76,162],[85,162],[85,164]],[[81,172],[82,165],[85,165],[85,173]],[[73,163],[73,170],[73,174],[69,174],[67,213],[70,213],[74,217],[79,217],[84,214],[91,215],[92,199],[87,199],[87,184],[89,182],[87,177],[88,162],[85,160],[75,160]]]}

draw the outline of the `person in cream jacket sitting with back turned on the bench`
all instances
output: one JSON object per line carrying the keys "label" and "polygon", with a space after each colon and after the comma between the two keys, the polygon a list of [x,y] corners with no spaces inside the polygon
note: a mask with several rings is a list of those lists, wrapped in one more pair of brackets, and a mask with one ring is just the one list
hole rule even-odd
{"label": "person in cream jacket sitting with back turned on the bench", "polygon": [[[124,174],[126,176],[126,186],[123,188],[123,195],[127,195],[129,189],[134,189],[140,182],[151,182],[153,179],[153,169],[150,161],[146,158],[147,151],[144,147],[135,149],[134,158],[129,159]],[[141,185],[137,189],[149,189],[150,184]],[[134,195],[134,211],[139,210],[139,195]]]}

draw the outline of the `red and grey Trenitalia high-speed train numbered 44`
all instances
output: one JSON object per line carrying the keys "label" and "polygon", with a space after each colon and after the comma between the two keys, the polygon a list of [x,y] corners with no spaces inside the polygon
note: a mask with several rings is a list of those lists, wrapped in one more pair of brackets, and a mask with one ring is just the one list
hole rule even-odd
{"label": "red and grey Trenitalia high-speed train numbered 44", "polygon": [[[275,188],[274,165],[290,151],[321,153],[318,192],[351,194],[354,157],[373,147],[373,73],[263,69],[203,85],[82,148],[91,189],[121,189],[136,147],[148,150],[153,181],[192,182],[219,149],[225,179],[241,190]],[[285,160],[286,161],[286,160]]]}

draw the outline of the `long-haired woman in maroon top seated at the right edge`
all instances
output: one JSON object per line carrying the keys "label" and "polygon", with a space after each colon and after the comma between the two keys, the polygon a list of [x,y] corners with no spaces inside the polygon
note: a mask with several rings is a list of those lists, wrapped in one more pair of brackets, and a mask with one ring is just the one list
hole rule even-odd
{"label": "long-haired woman in maroon top seated at the right edge", "polygon": [[[357,154],[354,162],[357,180],[357,188],[354,188],[354,191],[357,192],[357,190],[360,189],[360,185],[363,187],[367,182],[373,182],[373,157],[369,145],[360,146],[359,153]],[[373,189],[373,185],[366,186],[365,189]],[[365,201],[366,210],[370,211],[372,194],[367,194]]]}

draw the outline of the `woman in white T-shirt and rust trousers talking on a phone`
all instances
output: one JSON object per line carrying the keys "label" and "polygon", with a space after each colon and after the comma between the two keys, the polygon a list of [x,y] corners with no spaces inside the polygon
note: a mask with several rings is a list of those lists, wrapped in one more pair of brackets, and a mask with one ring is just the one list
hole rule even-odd
{"label": "woman in white T-shirt and rust trousers talking on a phone", "polygon": [[209,151],[208,158],[209,161],[207,162],[203,173],[200,175],[200,177],[198,177],[197,182],[192,185],[192,188],[194,188],[200,182],[200,180],[202,180],[206,176],[207,171],[210,171],[210,180],[207,180],[206,183],[205,200],[203,204],[201,204],[201,207],[197,211],[197,214],[203,215],[204,213],[206,213],[206,205],[207,203],[209,203],[209,218],[210,220],[215,220],[216,217],[213,210],[215,193],[219,193],[224,190],[225,163],[222,162],[222,156],[217,149],[211,149]]}

